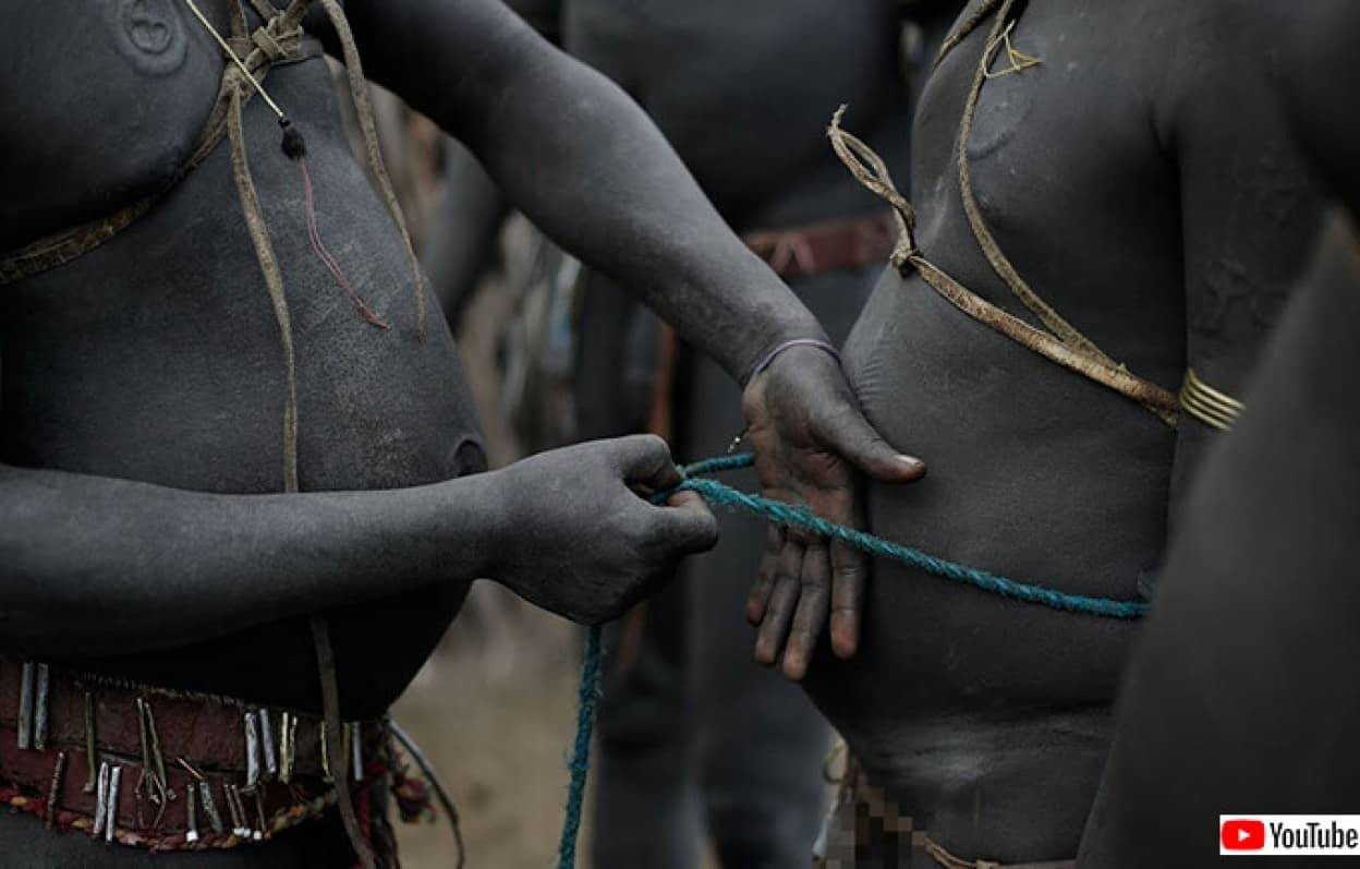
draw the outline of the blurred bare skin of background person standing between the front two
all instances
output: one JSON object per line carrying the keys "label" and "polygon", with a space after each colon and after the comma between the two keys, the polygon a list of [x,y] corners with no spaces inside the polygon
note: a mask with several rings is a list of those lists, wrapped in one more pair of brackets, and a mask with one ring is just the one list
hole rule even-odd
{"label": "blurred bare skin of background person standing between the front two", "polygon": [[[541,3],[515,3],[544,20]],[[528,5],[529,8],[522,8]],[[858,132],[906,166],[910,103],[902,11],[889,0],[567,0],[562,44],[609,75],[656,120],[737,231],[798,227],[885,212],[827,146],[842,102]],[[948,5],[948,4],[944,4]],[[936,15],[937,30],[952,15]],[[879,267],[792,279],[839,344]],[[635,301],[593,276],[582,309],[582,437],[645,423],[656,347],[630,352]],[[650,318],[649,318],[650,320]],[[641,356],[641,401],[620,401],[624,366]],[[722,369],[681,351],[675,379],[679,456],[721,454],[741,431],[741,392]],[[630,396],[631,397],[631,396]],[[641,408],[634,405],[641,404]],[[725,477],[756,488],[752,472]],[[725,866],[805,864],[826,804],[826,723],[804,692],[751,660],[741,617],[766,541],[758,518],[719,511],[722,540],[687,562],[676,585],[626,617],[623,649],[600,706],[596,755],[600,869],[685,868],[704,838]],[[630,635],[645,620],[641,638]]]}

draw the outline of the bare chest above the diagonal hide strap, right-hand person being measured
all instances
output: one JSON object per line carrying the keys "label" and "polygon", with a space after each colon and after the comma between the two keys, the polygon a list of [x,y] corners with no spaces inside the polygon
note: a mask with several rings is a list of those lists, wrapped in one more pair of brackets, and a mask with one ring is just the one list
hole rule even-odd
{"label": "bare chest above the diagonal hide strap, right-hand person being measured", "polygon": [[997,22],[956,23],[925,84],[917,242],[974,294],[1032,318],[993,265],[1004,258],[1107,354],[1174,381],[1185,309],[1176,167],[1155,122],[1156,58],[1121,53],[1117,38],[1156,29],[1064,0],[1015,4]]}

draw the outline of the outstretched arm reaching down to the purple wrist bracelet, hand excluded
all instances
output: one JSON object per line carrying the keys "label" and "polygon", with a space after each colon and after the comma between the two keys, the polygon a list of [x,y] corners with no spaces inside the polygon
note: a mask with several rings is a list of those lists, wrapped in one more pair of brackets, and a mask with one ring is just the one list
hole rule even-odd
{"label": "outstretched arm reaching down to the purple wrist bracelet, hand excluded", "polygon": [[458,135],[544,231],[734,378],[783,340],[824,337],[646,114],[492,5],[351,0],[348,10],[375,80]]}

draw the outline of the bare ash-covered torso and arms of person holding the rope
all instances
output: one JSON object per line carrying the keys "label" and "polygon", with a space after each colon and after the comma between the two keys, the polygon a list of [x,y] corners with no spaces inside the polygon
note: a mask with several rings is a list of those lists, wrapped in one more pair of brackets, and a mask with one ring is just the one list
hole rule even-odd
{"label": "bare ash-covered torso and arms of person holding the rope", "polygon": [[[203,5],[226,30],[224,3]],[[375,80],[464,137],[540,226],[732,377],[783,340],[821,335],[641,112],[498,3],[351,1],[348,14]],[[137,54],[163,58],[175,41],[175,68]],[[165,1],[27,5],[0,52],[15,118],[0,166],[5,250],[160,189],[223,64],[186,8]],[[103,246],[4,287],[0,647],[316,710],[302,616],[324,611],[341,713],[363,718],[405,687],[476,577],[600,623],[713,545],[696,499],[653,507],[631,491],[676,480],[656,439],[469,473],[483,460],[452,337],[437,310],[418,337],[398,235],[347,151],[324,63],[277,68],[268,90],[306,135],[322,237],[393,329],[364,324],[313,257],[298,167],[258,99],[246,139],[292,313],[302,494],[276,495],[283,354],[226,146]],[[790,351],[759,382],[793,369],[815,373],[800,398],[809,419],[860,420],[820,352]],[[862,420],[831,443],[885,477],[919,473]],[[849,468],[798,479],[815,496],[847,487]],[[0,865],[143,858],[45,835],[27,816],[0,824]],[[284,842],[158,859],[345,861],[333,825]]]}

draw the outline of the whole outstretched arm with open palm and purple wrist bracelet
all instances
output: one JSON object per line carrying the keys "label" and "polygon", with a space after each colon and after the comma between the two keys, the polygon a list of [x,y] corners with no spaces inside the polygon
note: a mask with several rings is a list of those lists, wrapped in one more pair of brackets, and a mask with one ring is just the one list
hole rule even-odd
{"label": "whole outstretched arm with open palm and purple wrist bracelet", "polygon": [[[884,481],[921,476],[919,461],[900,456],[864,420],[824,351],[789,350],[752,377],[777,347],[826,335],[725,226],[623,91],[552,49],[499,3],[350,0],[347,11],[369,75],[462,139],[537,226],[638,292],[745,386],[767,494],[853,522],[855,469]],[[866,571],[849,549],[798,536],[786,543],[781,563],[808,594],[781,598],[789,605],[762,619],[775,647],[796,623],[785,669],[797,677],[832,608],[842,612],[832,645],[853,654]]]}

